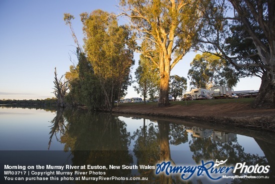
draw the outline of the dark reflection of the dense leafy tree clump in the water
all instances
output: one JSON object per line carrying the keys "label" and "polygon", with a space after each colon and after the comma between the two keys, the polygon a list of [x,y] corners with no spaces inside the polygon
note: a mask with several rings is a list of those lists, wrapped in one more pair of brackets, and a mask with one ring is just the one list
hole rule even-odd
{"label": "dark reflection of the dense leafy tree clump in the water", "polygon": [[[109,113],[95,114],[82,110],[65,110],[63,118],[67,123],[60,141],[64,143],[64,150],[70,151],[72,165],[105,165],[109,168],[109,165],[132,164],[133,158],[128,150],[130,134],[126,130],[126,124],[118,117]],[[75,170],[71,169],[73,172]],[[91,171],[91,169],[79,169],[79,171]],[[94,169],[94,171],[105,174],[87,174],[86,177],[131,176],[130,169]],[[96,183],[109,182],[100,180]],[[75,183],[90,183],[90,181],[75,180]],[[112,180],[112,183],[121,183],[121,180]]]}

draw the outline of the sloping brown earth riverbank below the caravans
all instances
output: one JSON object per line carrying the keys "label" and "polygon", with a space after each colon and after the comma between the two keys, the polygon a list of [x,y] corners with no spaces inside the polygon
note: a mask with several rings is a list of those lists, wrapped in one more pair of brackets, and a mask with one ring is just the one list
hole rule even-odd
{"label": "sloping brown earth riverbank below the caravans", "polygon": [[275,132],[275,109],[253,109],[253,99],[215,99],[170,102],[157,108],[156,103],[124,103],[113,113],[157,116],[182,120],[226,124]]}

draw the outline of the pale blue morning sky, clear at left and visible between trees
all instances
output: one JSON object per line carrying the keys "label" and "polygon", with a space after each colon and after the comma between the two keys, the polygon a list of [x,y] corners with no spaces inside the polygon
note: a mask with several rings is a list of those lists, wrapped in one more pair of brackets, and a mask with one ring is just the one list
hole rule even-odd
{"label": "pale blue morning sky, clear at left and visible between trees", "polygon": [[[96,9],[118,13],[117,2],[0,0],[0,99],[53,97],[54,67],[59,77],[68,71],[71,65],[69,53],[74,50],[63,14],[74,15],[73,29],[82,43],[79,14]],[[171,75],[187,78],[189,63],[194,56],[195,53],[190,53],[184,57]],[[138,57],[135,60],[137,64]],[[257,78],[242,79],[234,90],[258,90],[259,85]],[[129,87],[126,97],[138,96]]]}

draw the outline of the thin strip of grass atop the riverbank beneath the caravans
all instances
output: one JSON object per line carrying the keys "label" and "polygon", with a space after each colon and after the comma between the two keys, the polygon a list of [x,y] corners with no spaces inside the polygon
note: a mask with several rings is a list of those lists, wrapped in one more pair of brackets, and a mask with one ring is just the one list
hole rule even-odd
{"label": "thin strip of grass atop the riverbank beneath the caravans", "polygon": [[[170,101],[170,104],[175,105],[194,105],[194,104],[201,104],[201,105],[216,105],[216,104],[224,104],[224,103],[246,103],[250,104],[255,98],[239,98],[239,99],[213,99],[213,100],[187,100],[185,101]],[[118,106],[134,106],[137,104],[143,104],[143,103],[121,103]],[[145,105],[148,106],[156,106],[157,102],[148,102]],[[115,104],[116,106],[116,104]]]}

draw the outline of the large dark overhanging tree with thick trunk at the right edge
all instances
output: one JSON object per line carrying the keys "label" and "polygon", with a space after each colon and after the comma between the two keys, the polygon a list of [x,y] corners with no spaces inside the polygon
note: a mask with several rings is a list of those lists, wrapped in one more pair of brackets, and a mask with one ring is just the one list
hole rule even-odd
{"label": "large dark overhanging tree with thick trunk at the right edge", "polygon": [[[273,0],[215,0],[202,6],[204,29],[198,40],[206,51],[222,55],[235,67],[257,68],[261,72],[261,85],[252,103],[255,108],[275,108],[275,1]],[[231,14],[228,10],[231,10]],[[229,27],[240,25],[244,30]],[[251,40],[253,53],[238,53],[228,49],[227,39],[234,34],[242,41]],[[242,43],[241,43],[242,44]],[[248,59],[258,56],[259,59]],[[253,71],[252,71],[253,72]]]}

